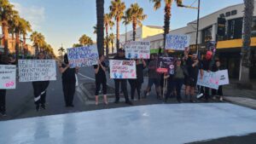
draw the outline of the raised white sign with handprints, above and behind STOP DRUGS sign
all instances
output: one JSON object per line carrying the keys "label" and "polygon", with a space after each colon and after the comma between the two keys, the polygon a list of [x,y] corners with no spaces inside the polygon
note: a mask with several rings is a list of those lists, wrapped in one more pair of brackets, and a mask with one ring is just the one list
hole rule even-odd
{"label": "raised white sign with handprints, above and behind STOP DRUGS sign", "polygon": [[149,59],[150,42],[131,41],[125,43],[125,58],[127,59]]}

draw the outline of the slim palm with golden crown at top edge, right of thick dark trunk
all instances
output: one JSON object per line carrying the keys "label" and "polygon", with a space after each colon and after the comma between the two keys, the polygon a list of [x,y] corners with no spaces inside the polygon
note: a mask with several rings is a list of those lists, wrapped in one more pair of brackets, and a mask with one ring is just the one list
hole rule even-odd
{"label": "slim palm with golden crown at top edge, right of thick dark trunk", "polygon": [[116,47],[119,49],[119,22],[124,16],[125,3],[121,0],[112,0],[109,9],[110,15],[116,20]]}

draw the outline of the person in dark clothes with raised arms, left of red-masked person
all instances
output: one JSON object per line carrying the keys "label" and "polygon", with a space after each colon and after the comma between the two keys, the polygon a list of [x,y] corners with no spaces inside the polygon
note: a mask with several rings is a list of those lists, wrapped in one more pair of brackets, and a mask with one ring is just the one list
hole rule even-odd
{"label": "person in dark clothes with raised arms, left of red-masked person", "polygon": [[199,72],[199,60],[197,55],[189,55],[185,53],[186,68],[189,75],[185,77],[185,98],[189,97],[190,102],[195,102],[195,86]]}

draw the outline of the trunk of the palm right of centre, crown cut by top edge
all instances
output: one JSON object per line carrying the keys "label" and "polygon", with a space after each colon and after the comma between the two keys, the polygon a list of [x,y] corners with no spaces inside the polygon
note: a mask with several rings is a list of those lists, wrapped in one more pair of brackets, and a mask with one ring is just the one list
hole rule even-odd
{"label": "trunk of the palm right of centre, crown cut by top edge", "polygon": [[171,19],[171,3],[167,3],[165,7],[165,26],[164,26],[164,51],[166,51],[166,34],[170,31],[170,19]]}

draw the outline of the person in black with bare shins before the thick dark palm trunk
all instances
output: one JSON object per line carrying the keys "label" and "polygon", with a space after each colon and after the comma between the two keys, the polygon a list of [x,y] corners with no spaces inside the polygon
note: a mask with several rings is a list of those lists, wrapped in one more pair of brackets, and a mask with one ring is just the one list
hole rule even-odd
{"label": "person in black with bare shins before the thick dark palm trunk", "polygon": [[107,105],[107,78],[106,78],[106,64],[104,62],[104,55],[99,55],[99,61],[98,64],[94,66],[95,70],[95,79],[96,79],[96,92],[95,92],[95,99],[96,99],[96,105],[98,105],[99,100],[99,91],[103,89],[103,95],[104,95],[104,103]]}

